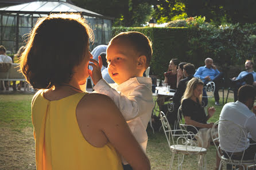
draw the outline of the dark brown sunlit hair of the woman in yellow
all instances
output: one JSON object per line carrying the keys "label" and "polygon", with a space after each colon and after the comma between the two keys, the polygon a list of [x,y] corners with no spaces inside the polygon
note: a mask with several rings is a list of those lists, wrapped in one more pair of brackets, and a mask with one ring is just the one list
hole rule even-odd
{"label": "dark brown sunlit hair of the woman in yellow", "polygon": [[93,33],[79,14],[38,19],[20,61],[20,70],[36,89],[68,83],[74,66],[88,53]]}

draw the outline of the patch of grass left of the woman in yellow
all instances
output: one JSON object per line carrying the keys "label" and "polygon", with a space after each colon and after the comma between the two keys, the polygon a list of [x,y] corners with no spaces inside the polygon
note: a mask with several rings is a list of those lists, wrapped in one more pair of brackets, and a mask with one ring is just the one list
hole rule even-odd
{"label": "patch of grass left of the woman in yellow", "polygon": [[36,169],[32,94],[0,94],[0,169]]}

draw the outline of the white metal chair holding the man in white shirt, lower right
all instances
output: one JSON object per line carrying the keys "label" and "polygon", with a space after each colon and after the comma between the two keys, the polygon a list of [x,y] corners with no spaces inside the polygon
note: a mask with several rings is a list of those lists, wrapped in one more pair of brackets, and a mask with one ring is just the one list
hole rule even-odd
{"label": "white metal chair holding the man in white shirt, lower right", "polygon": [[[218,126],[218,135],[214,133],[214,129]],[[220,157],[220,166],[219,170],[224,164],[231,164],[232,169],[236,165],[242,166],[243,169],[248,169],[248,165],[256,164],[256,158],[254,160],[243,160],[245,156],[246,145],[243,151],[238,151],[238,146],[241,147],[241,140],[247,139],[245,132],[242,127],[238,124],[235,124],[229,120],[219,120],[216,121],[211,131],[212,141],[214,141],[214,145],[218,151],[218,156]],[[235,139],[235,140],[234,140]],[[233,152],[226,152],[221,149],[222,143],[232,144]],[[220,145],[218,145],[220,143]],[[224,156],[226,155],[226,157]],[[239,156],[239,159],[238,159]],[[241,158],[240,158],[241,157]]]}

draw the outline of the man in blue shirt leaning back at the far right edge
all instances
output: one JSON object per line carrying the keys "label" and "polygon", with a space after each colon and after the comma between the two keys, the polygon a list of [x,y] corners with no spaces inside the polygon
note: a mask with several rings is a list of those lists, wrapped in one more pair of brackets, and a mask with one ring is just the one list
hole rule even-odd
{"label": "man in blue shirt leaning back at the far right edge", "polygon": [[256,85],[256,72],[253,70],[253,61],[246,60],[245,71],[241,72],[238,77],[233,77],[231,85],[234,86],[234,101],[238,99],[238,89],[242,85]]}

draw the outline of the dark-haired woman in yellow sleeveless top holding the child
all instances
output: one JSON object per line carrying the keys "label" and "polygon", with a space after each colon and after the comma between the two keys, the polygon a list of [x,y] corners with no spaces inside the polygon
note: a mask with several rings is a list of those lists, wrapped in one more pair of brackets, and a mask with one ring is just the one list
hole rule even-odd
{"label": "dark-haired woman in yellow sleeveless top holding the child", "polygon": [[78,14],[40,18],[30,33],[20,63],[41,89],[32,100],[36,169],[119,170],[120,156],[133,169],[150,169],[114,102],[86,92],[92,35]]}

